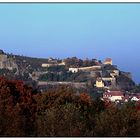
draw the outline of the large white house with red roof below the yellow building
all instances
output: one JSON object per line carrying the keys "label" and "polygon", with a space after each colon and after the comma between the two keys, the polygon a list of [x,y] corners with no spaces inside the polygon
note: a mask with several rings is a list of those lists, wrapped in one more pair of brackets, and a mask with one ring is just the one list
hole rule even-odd
{"label": "large white house with red roof below the yellow building", "polygon": [[122,91],[107,91],[103,94],[103,99],[109,99],[112,102],[123,100],[124,93]]}

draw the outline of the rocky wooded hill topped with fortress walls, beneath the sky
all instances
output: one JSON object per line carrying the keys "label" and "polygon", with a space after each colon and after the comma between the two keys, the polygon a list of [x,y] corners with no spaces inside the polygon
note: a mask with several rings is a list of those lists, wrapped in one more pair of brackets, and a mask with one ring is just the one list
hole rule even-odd
{"label": "rocky wooded hill topped with fortress walls, beneath the sky", "polygon": [[82,60],[77,57],[66,59],[32,58],[5,53],[0,50],[0,75],[9,79],[23,80],[33,86],[46,82],[41,88],[56,85],[80,83],[98,89],[131,90],[135,86],[131,73],[123,72],[112,64],[97,59]]}

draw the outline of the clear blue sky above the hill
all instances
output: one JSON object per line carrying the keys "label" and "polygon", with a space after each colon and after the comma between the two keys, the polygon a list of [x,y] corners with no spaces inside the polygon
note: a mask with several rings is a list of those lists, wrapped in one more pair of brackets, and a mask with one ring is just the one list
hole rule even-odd
{"label": "clear blue sky above the hill", "polygon": [[140,3],[1,3],[0,49],[41,58],[111,57],[140,83]]}

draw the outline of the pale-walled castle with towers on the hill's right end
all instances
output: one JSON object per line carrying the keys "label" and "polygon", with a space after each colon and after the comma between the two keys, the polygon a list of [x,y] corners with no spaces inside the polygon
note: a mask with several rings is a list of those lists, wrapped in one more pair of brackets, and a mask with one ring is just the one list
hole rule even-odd
{"label": "pale-walled castle with towers on the hill's right end", "polygon": [[[109,68],[103,70],[103,68],[106,66],[109,66]],[[116,77],[118,77],[120,74],[120,71],[117,69],[117,67],[112,64],[111,58],[106,58],[104,63],[100,65],[69,68],[69,71],[72,73],[77,73],[79,71],[89,71],[91,75],[96,79],[95,87],[97,88],[111,88],[116,86]],[[100,73],[100,76],[96,77],[96,73]]]}

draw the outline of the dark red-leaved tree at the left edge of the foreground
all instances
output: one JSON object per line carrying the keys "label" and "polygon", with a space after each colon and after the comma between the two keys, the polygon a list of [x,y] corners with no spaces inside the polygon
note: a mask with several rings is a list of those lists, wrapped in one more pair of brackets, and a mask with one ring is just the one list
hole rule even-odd
{"label": "dark red-leaved tree at the left edge of the foreground", "polygon": [[[31,87],[22,81],[9,81],[0,77],[1,136],[33,135],[35,110],[36,102]],[[10,124],[8,128],[7,123]]]}

